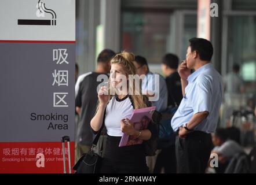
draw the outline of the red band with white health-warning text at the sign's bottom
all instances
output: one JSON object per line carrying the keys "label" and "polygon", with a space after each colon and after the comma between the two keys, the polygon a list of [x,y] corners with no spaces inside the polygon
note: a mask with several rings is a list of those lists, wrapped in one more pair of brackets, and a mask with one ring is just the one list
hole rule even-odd
{"label": "red band with white health-warning text at the sign's bottom", "polygon": [[[65,142],[65,165],[68,150]],[[70,142],[71,169],[74,166],[74,142]],[[40,154],[38,158],[36,155]],[[43,154],[43,155],[42,155]],[[44,167],[42,161],[44,160]],[[63,149],[60,142],[0,142],[0,173],[63,173]],[[73,172],[73,171],[72,171]]]}

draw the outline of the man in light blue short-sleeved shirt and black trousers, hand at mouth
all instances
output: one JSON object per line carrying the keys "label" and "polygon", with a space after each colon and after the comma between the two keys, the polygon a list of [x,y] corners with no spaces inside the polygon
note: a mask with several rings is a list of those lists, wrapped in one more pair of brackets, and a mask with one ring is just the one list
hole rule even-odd
{"label": "man in light blue short-sleeved shirt and black trousers, hand at mouth", "polygon": [[[204,173],[213,143],[222,101],[222,77],[213,64],[213,46],[206,39],[193,38],[181,63],[183,99],[171,120],[177,133],[175,150],[178,173]],[[195,72],[191,74],[191,69]]]}

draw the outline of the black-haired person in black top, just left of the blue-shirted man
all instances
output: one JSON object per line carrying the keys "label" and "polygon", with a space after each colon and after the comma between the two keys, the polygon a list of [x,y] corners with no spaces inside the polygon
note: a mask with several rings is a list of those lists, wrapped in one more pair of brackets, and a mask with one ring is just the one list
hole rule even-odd
{"label": "black-haired person in black top, just left of the blue-shirted man", "polygon": [[168,106],[179,106],[182,96],[181,77],[178,74],[178,57],[174,54],[166,54],[162,60],[162,71],[166,76],[168,90]]}

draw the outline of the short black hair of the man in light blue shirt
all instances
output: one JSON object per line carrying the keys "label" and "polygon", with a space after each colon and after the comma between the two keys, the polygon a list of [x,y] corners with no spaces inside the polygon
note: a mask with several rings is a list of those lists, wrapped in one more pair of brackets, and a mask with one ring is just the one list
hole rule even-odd
{"label": "short black hair of the man in light blue shirt", "polygon": [[202,38],[192,38],[189,39],[191,52],[197,51],[199,58],[204,61],[211,61],[213,57],[213,45],[211,42]]}

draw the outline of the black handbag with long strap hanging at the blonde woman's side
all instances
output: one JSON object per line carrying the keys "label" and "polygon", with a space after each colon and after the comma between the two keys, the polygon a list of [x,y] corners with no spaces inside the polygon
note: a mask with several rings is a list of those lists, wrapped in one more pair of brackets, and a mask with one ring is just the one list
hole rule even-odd
{"label": "black handbag with long strap hanging at the blonde woman's side", "polygon": [[102,135],[104,130],[105,112],[103,117],[103,125],[97,132],[96,137],[93,140],[92,149],[85,154],[82,154],[78,162],[73,166],[75,173],[99,173],[101,168],[101,161],[103,157],[103,149],[105,146],[106,135]]}

